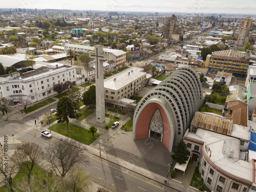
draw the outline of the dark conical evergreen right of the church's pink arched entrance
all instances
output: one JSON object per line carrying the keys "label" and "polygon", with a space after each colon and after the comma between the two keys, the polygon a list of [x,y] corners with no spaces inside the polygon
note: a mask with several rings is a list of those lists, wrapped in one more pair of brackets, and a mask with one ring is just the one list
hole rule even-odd
{"label": "dark conical evergreen right of the church's pink arched entrance", "polygon": [[181,139],[174,150],[174,154],[171,155],[172,159],[176,161],[177,163],[184,164],[188,160],[189,151],[187,150],[186,143]]}

